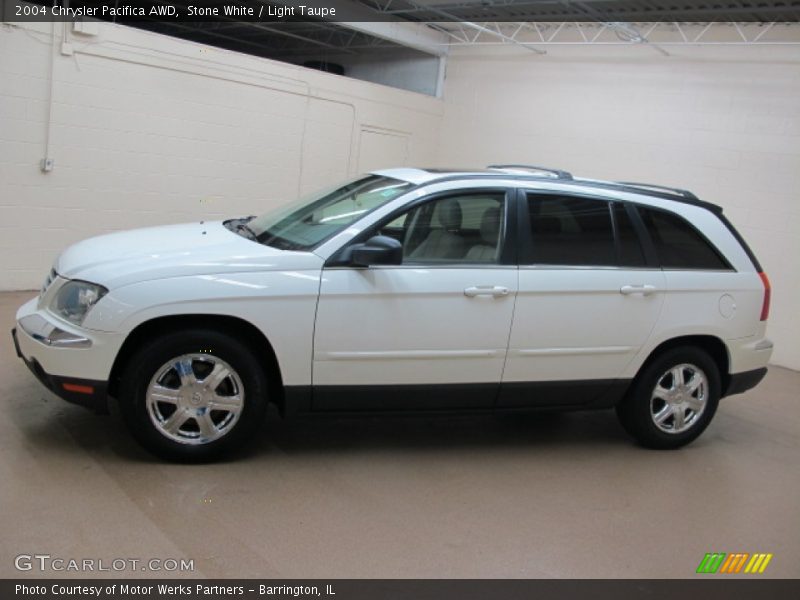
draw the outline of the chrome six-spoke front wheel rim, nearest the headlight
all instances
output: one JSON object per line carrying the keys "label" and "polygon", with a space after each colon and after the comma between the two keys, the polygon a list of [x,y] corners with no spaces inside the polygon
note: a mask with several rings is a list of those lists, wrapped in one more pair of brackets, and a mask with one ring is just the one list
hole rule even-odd
{"label": "chrome six-spoke front wheel rim, nearest the headlight", "polygon": [[227,434],[242,413],[244,386],[225,361],[183,354],[164,363],[147,386],[147,413],[165,437],[201,445]]}

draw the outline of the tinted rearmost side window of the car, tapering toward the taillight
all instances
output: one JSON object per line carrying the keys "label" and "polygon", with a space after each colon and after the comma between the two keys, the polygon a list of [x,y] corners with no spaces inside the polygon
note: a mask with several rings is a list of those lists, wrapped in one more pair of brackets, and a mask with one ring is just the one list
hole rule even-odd
{"label": "tinted rearmost side window of the car, tapering toward the taillight", "polygon": [[658,259],[665,269],[729,270],[722,255],[683,217],[638,206]]}

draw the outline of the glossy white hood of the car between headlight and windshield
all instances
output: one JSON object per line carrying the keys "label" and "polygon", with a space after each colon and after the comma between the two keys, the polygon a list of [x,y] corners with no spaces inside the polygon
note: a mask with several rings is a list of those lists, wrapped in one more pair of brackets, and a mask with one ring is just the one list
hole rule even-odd
{"label": "glossy white hood of the car between headlight and windshield", "polygon": [[311,252],[290,252],[244,238],[221,221],[133,229],[89,238],[56,261],[62,277],[113,289],[129,283],[247,271],[319,269]]}

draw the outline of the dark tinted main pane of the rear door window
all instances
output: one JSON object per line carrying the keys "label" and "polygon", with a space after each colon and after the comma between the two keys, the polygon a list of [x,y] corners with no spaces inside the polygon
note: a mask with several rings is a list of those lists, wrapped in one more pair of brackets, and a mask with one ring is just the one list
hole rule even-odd
{"label": "dark tinted main pane of the rear door window", "polygon": [[528,209],[534,264],[618,264],[608,202],[530,195]]}

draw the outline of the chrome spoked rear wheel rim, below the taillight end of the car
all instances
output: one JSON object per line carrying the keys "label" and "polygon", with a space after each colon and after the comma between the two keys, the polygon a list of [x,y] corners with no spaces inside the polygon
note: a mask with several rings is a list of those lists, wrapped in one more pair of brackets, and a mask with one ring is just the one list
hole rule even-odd
{"label": "chrome spoked rear wheel rim, below the taillight end of the car", "polygon": [[666,433],[690,429],[706,409],[708,377],[697,366],[675,365],[658,378],[650,396],[650,416]]}

